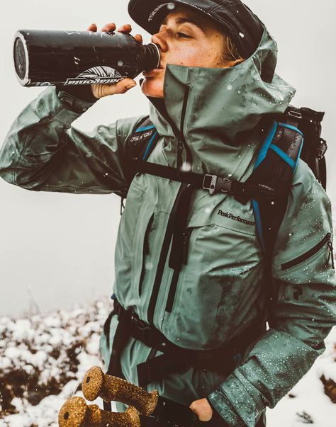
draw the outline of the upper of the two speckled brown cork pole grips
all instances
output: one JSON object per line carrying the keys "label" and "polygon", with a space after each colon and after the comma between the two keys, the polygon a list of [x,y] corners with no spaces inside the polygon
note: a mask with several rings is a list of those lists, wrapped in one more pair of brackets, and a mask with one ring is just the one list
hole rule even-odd
{"label": "upper of the two speckled brown cork pole grips", "polygon": [[146,392],[144,389],[112,375],[103,374],[99,366],[89,369],[82,382],[84,397],[90,401],[97,397],[106,402],[111,400],[135,406],[141,414],[150,416],[159,399],[159,392]]}

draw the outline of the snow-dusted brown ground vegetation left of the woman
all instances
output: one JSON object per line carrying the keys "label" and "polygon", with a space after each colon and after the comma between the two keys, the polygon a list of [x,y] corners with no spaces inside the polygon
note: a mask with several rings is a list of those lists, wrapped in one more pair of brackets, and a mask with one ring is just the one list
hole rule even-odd
{"label": "snow-dusted brown ground vegetation left of the woman", "polygon": [[111,302],[28,319],[0,318],[0,426],[57,426],[86,370],[101,365],[99,337]]}

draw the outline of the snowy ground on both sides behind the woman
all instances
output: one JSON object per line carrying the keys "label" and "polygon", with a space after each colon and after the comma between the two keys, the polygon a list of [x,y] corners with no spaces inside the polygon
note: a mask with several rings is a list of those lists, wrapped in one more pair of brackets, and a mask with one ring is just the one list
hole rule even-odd
{"label": "snowy ground on both sides behind the woman", "polygon": [[[56,427],[57,414],[69,397],[82,396],[84,373],[101,365],[99,335],[111,302],[45,317],[0,319],[0,427]],[[335,389],[324,391],[321,377],[336,381],[336,329],[313,368],[268,411],[267,427],[336,426]],[[94,402],[101,406],[101,402]]]}

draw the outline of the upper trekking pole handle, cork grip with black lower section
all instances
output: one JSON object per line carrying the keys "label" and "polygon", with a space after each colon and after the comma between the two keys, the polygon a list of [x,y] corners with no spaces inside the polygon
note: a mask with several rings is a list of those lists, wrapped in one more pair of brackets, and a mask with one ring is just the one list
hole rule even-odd
{"label": "upper trekking pole handle, cork grip with black lower section", "polygon": [[[159,426],[163,420],[167,426],[196,427],[207,426],[199,421],[188,406],[159,396],[159,392],[146,390],[118,377],[106,375],[99,366],[89,369],[82,382],[82,392],[89,401],[101,397],[105,402],[121,402],[134,406],[142,416],[141,426]],[[146,419],[147,417],[147,419]]]}

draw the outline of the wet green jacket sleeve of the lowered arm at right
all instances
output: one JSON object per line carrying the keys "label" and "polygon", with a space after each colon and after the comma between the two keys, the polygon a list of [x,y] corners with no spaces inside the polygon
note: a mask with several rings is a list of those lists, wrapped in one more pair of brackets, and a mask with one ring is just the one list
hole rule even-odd
{"label": "wet green jacket sleeve of the lowered arm at right", "polygon": [[254,427],[310,369],[336,323],[330,201],[300,161],[274,248],[270,328],[208,396],[230,426]]}

